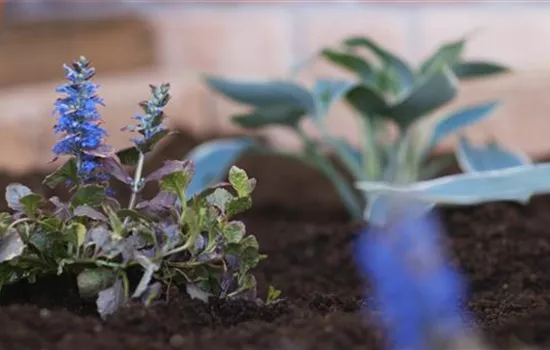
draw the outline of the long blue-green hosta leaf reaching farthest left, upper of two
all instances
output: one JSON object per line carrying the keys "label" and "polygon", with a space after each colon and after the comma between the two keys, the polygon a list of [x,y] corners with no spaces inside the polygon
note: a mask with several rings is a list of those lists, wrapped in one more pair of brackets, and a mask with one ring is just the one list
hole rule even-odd
{"label": "long blue-green hosta leaf reaching farthest left, upper of two", "polygon": [[254,107],[295,106],[314,110],[311,94],[301,86],[282,81],[237,82],[228,79],[206,77],[207,85],[233,99]]}

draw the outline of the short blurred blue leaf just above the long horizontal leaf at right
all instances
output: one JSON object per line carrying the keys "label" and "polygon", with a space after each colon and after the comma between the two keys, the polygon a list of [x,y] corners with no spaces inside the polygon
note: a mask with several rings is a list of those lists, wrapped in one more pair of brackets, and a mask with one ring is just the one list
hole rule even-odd
{"label": "short blurred blue leaf just above the long horizontal leaf at right", "polygon": [[496,142],[475,147],[465,137],[458,141],[456,158],[464,172],[498,170],[531,164],[527,156],[511,152]]}

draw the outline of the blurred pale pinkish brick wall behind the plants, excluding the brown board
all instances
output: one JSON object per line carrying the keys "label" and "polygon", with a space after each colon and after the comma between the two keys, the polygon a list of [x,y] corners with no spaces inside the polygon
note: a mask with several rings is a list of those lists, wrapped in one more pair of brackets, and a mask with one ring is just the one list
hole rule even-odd
{"label": "blurred pale pinkish brick wall behind the plants, excluding the brown board", "polygon": [[[368,35],[416,64],[442,42],[475,32],[466,55],[498,60],[515,72],[465,84],[451,107],[500,97],[505,102],[501,109],[469,130],[474,140],[496,138],[533,155],[550,152],[550,123],[546,122],[550,114],[546,97],[550,92],[548,3],[158,3],[133,7],[154,33],[150,49],[156,52],[156,63],[132,73],[98,72],[97,81],[108,103],[104,116],[116,145],[127,144],[128,135],[118,132],[118,127],[137,112],[136,102],[147,97],[148,83],[172,83],[174,99],[168,111],[174,124],[197,133],[233,131],[228,116],[242,107],[207,91],[200,73],[283,77],[319,48],[351,35]],[[298,80],[308,84],[315,77],[341,74],[316,62],[301,71]],[[16,159],[0,154],[0,167],[25,170],[49,160],[54,142],[50,135],[52,89],[59,83],[60,79],[0,90],[0,122],[5,125],[2,130],[9,133],[9,137],[0,137],[0,149],[28,149]],[[344,106],[334,108],[330,122],[338,134],[358,140],[353,118]],[[29,128],[30,123],[37,126]],[[31,144],[26,141],[29,134]],[[284,130],[273,130],[270,135],[286,147],[296,145]]]}

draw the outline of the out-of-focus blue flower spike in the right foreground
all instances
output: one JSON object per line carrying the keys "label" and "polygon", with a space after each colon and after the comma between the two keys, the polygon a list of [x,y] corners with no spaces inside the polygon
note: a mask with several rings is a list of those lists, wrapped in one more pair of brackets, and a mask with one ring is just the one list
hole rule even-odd
{"label": "out-of-focus blue flower spike in the right foreground", "polygon": [[[403,209],[403,207],[401,208]],[[372,286],[392,350],[483,349],[459,300],[465,284],[441,247],[437,216],[394,212],[385,227],[365,228],[356,261]]]}

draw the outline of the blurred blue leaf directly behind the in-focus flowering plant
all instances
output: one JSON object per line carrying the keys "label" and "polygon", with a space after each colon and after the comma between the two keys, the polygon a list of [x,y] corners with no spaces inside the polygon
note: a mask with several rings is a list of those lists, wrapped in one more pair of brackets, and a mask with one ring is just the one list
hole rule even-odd
{"label": "blurred blue leaf directly behind the in-focus flowering plant", "polygon": [[195,164],[195,175],[187,187],[187,198],[222,181],[231,165],[252,145],[249,138],[234,138],[205,142],[192,149],[187,159]]}

